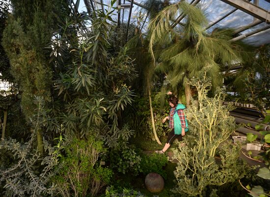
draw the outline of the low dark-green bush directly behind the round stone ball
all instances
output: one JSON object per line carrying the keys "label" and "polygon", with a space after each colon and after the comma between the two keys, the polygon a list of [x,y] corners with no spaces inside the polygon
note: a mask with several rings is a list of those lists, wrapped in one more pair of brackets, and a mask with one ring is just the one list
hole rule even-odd
{"label": "low dark-green bush directly behind the round stone ball", "polygon": [[168,158],[164,154],[141,154],[140,169],[143,175],[158,173],[167,179],[167,173],[163,167],[168,163]]}

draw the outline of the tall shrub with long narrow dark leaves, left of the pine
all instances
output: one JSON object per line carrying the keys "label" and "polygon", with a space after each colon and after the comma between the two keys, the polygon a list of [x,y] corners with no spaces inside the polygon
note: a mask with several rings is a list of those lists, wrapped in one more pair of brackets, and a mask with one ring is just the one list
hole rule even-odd
{"label": "tall shrub with long narrow dark leaves, left of the pine", "polygon": [[[52,44],[67,58],[61,61],[57,53],[51,53],[58,68],[54,99],[63,101],[61,106],[54,101],[58,106],[52,114],[56,127],[63,124],[71,138],[99,136],[109,147],[117,146],[123,133],[132,133],[124,129],[128,127],[122,122],[122,113],[135,96],[129,84],[136,77],[128,48],[121,53],[111,50],[111,9],[96,10],[87,18],[91,24],[79,16],[63,22]],[[72,28],[77,31],[65,31]],[[55,130],[54,125],[50,128]]]}

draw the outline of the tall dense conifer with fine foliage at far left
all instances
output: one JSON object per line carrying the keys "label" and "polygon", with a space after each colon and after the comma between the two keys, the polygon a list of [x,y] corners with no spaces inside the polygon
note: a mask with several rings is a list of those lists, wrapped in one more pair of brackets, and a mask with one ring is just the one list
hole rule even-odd
{"label": "tall dense conifer with fine foliage at far left", "polygon": [[[11,72],[19,84],[21,106],[26,118],[34,115],[34,97],[51,100],[52,66],[50,43],[56,20],[56,9],[61,1],[11,0],[13,13],[3,33],[3,46],[8,55]],[[37,128],[37,147],[43,152],[42,129]]]}

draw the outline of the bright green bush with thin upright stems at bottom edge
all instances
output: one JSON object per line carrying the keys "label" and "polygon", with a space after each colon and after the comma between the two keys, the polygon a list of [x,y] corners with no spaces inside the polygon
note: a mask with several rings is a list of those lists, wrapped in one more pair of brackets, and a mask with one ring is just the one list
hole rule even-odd
{"label": "bright green bush with thin upright stems at bottom edge", "polygon": [[108,168],[99,166],[98,159],[106,149],[101,141],[74,139],[65,149],[57,175],[53,177],[54,195],[95,196],[110,182],[113,175]]}

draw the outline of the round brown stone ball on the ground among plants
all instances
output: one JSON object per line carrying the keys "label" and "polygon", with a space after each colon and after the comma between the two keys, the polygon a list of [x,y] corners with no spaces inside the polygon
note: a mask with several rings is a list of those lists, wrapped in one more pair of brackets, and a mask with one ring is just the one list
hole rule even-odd
{"label": "round brown stone ball on the ground among plants", "polygon": [[149,192],[159,193],[164,188],[164,180],[158,173],[149,173],[145,177],[145,186]]}

